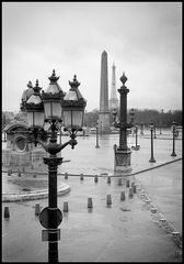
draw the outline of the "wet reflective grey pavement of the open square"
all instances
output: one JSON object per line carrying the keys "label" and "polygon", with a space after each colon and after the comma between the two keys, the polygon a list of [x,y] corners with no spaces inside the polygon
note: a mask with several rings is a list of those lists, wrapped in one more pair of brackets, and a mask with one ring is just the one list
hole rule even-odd
{"label": "wet reflective grey pavement of the open square", "polygon": [[[119,177],[112,176],[107,184],[107,176],[102,176],[104,173],[114,175],[113,144],[118,144],[118,135],[102,136],[100,148],[95,148],[95,135],[78,138],[74,150],[66,147],[62,151],[62,156],[70,162],[59,167],[58,186],[64,183],[71,190],[58,197],[61,211],[64,201],[69,205],[69,212],[64,213],[59,226],[59,262],[182,262],[181,248],[172,234],[173,230],[182,233],[182,161],[179,161],[182,141],[176,140],[177,156],[171,157],[172,140],[170,135],[164,139],[168,138],[170,140],[154,140],[157,162],[150,164],[150,139],[139,136],[140,151],[131,153],[131,173],[175,162],[134,176],[122,175],[122,185]],[[135,136],[128,136],[128,140],[135,141]],[[64,173],[69,174],[68,179]],[[99,175],[99,182],[85,176],[90,174]],[[37,177],[46,182],[43,175]],[[137,185],[137,193],[131,198],[127,179],[130,185]],[[3,183],[5,189],[9,182],[4,179]],[[12,184],[11,187],[12,191],[20,190],[20,185]],[[124,201],[120,200],[122,191],[126,196]],[[142,194],[147,198],[142,198]],[[107,195],[112,197],[111,207],[106,206]],[[90,197],[93,201],[91,210],[88,209]],[[10,209],[10,219],[2,219],[3,262],[48,261],[48,243],[42,241],[44,228],[35,216],[36,204],[43,209],[48,200],[2,204],[3,208]],[[157,208],[157,213],[151,211],[151,206]],[[165,222],[161,222],[163,218],[173,230],[165,228]]]}

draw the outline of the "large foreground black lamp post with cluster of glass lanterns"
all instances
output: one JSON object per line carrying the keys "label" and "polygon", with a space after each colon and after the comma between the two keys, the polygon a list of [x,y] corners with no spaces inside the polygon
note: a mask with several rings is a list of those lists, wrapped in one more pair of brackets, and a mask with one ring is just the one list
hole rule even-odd
{"label": "large foreground black lamp post with cluster of glass lanterns", "polygon": [[[47,229],[48,234],[48,261],[58,262],[58,240],[59,231],[57,228],[61,222],[61,211],[57,208],[57,167],[62,163],[62,157],[57,157],[67,145],[73,148],[77,144],[77,132],[82,130],[83,113],[87,105],[78,87],[80,82],[74,75],[73,80],[69,81],[70,89],[66,94],[57,84],[55,69],[48,77],[50,80],[46,91],[41,94],[38,80],[33,88],[34,92],[27,101],[22,101],[21,110],[27,113],[31,142],[39,143],[49,157],[44,157],[44,163],[48,165],[48,207],[39,215],[39,221]],[[45,131],[44,124],[49,123],[49,129]],[[57,132],[60,125],[65,131],[69,131],[70,140],[64,144],[57,143]],[[49,142],[43,141],[49,138]],[[46,231],[46,230],[43,230]]]}

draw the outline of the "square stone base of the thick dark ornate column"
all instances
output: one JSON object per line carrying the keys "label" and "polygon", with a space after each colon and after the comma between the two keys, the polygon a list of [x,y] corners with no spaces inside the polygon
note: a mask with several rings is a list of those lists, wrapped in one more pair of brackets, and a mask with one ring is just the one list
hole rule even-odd
{"label": "square stone base of the thick dark ornate column", "polygon": [[130,150],[120,151],[117,150],[117,146],[114,145],[114,170],[120,170],[129,173],[131,170],[130,167]]}

